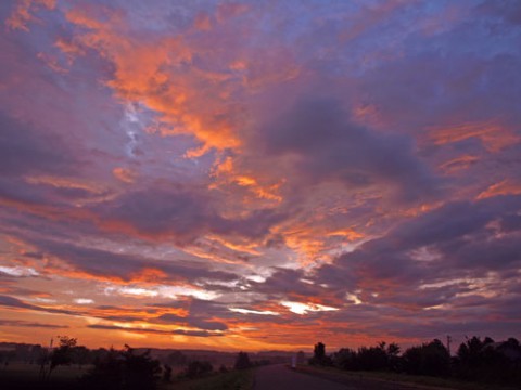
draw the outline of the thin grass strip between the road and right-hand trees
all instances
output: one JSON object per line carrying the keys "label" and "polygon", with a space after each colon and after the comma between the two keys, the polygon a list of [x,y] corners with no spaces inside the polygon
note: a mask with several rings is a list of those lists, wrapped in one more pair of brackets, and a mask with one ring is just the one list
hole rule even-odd
{"label": "thin grass strip between the road and right-hand trees", "polygon": [[298,366],[298,372],[329,377],[336,381],[346,380],[380,380],[385,382],[398,382],[415,385],[419,388],[454,389],[454,390],[512,390],[513,388],[499,387],[497,385],[476,384],[461,381],[453,378],[436,378],[430,376],[407,375],[385,372],[348,372],[334,367]]}

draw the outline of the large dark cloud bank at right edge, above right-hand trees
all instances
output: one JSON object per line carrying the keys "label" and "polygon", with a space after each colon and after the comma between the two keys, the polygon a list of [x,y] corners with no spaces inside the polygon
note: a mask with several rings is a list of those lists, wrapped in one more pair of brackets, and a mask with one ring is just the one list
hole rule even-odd
{"label": "large dark cloud bank at right edge, above right-hand trees", "polygon": [[359,290],[372,304],[420,310],[470,304],[462,297],[519,277],[521,231],[497,229],[520,208],[519,196],[449,203],[321,266],[314,281],[339,294]]}

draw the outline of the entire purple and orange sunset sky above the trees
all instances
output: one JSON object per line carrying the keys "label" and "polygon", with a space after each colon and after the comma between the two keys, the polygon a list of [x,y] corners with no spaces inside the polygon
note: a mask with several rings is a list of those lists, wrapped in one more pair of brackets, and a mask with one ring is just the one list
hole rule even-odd
{"label": "entire purple and orange sunset sky above the trees", "polygon": [[521,3],[0,2],[0,341],[521,337]]}

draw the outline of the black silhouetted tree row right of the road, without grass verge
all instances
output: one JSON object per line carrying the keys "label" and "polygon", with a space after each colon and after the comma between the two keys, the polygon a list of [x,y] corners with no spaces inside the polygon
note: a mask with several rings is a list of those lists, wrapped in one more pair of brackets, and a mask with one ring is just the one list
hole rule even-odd
{"label": "black silhouetted tree row right of the road, without grass verge", "polygon": [[411,375],[453,377],[497,385],[521,384],[521,344],[516,338],[496,342],[490,337],[467,338],[456,355],[439,339],[407,348],[380,342],[357,350],[342,348],[327,354],[322,342],[315,344],[312,365],[335,366],[346,370],[386,370]]}

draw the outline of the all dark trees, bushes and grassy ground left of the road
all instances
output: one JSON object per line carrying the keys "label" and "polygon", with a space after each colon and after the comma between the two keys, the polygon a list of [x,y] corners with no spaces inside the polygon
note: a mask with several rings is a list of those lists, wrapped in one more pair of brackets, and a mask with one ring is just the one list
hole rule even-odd
{"label": "all dark trees, bushes and grassy ground left of the road", "polygon": [[54,348],[0,353],[0,388],[9,390],[205,390],[253,389],[253,367],[240,352],[232,366],[215,369],[209,361],[189,359],[180,351],[163,360],[129,346],[123,350],[89,350],[77,340],[59,337]]}

